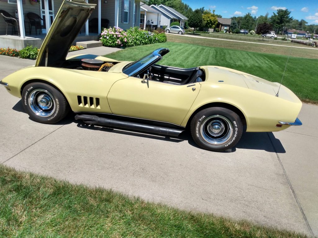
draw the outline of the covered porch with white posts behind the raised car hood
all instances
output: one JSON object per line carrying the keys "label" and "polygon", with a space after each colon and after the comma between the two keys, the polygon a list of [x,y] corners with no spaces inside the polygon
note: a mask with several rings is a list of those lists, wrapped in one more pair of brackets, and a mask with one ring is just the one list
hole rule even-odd
{"label": "covered porch with white posts behind the raised car hood", "polygon": [[[109,23],[102,16],[108,15],[108,11],[114,11],[113,7],[106,6],[112,5],[112,1],[108,1],[107,3],[106,1],[101,2],[101,0],[86,0],[86,3],[94,3],[97,6],[73,42],[73,45],[76,45],[76,42],[80,41],[99,40],[98,32],[101,31],[102,27],[108,27]],[[50,28],[56,17],[55,12],[58,12],[61,4],[62,0],[54,0],[54,3],[53,0],[40,0],[40,2],[17,0],[16,4],[0,2],[0,9],[9,13],[10,18],[13,18],[11,21],[16,22],[14,25],[6,24],[7,21],[5,20],[8,18],[0,15],[0,47],[10,47],[17,50],[21,50],[27,45],[41,47],[46,36],[46,29]],[[101,12],[102,7],[104,7],[103,13]],[[30,19],[29,13],[38,16],[36,17],[38,18],[36,23]],[[114,24],[114,20],[112,24]]]}

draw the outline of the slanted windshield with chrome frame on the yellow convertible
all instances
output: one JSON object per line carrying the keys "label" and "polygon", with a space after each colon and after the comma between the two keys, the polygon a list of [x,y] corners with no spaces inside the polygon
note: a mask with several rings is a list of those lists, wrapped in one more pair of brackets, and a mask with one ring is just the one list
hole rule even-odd
{"label": "slanted windshield with chrome frame on the yellow convertible", "polygon": [[[169,50],[165,49],[165,48],[160,48],[160,49],[154,50],[152,53],[142,57],[141,59],[127,64],[122,69],[122,72],[128,76],[136,76],[139,73],[141,73],[142,71],[149,68],[151,65],[154,65],[155,63],[157,63],[159,60],[162,59],[162,56],[164,56],[168,52],[169,52]],[[147,60],[145,63],[142,63],[142,61],[144,61],[147,57],[149,57],[151,55],[153,57],[149,58],[149,60]],[[140,64],[140,66],[138,64]],[[136,66],[137,66],[137,68],[136,68]]]}

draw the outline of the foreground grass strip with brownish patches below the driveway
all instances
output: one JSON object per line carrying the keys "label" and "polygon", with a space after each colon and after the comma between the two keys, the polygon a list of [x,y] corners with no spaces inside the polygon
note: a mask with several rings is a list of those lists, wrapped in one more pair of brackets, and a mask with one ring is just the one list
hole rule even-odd
{"label": "foreground grass strip with brownish patches below the driveway", "polygon": [[0,165],[0,237],[307,237]]}

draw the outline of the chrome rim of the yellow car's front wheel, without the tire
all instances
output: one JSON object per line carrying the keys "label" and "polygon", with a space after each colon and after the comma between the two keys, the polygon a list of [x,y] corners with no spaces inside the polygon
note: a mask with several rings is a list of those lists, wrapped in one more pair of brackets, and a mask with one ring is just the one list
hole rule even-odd
{"label": "chrome rim of the yellow car's front wheel, without the tire", "polygon": [[55,112],[55,100],[45,89],[35,89],[28,97],[29,106],[34,114],[40,117],[49,117]]}

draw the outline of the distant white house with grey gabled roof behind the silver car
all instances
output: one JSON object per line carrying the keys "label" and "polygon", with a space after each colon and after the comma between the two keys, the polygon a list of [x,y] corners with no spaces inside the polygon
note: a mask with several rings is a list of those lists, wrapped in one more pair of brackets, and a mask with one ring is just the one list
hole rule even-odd
{"label": "distant white house with grey gabled roof behind the silver car", "polygon": [[151,8],[159,11],[161,13],[161,26],[170,27],[170,23],[179,22],[180,27],[184,27],[185,21],[188,20],[187,17],[183,16],[180,12],[177,12],[171,7],[165,5],[150,5]]}

